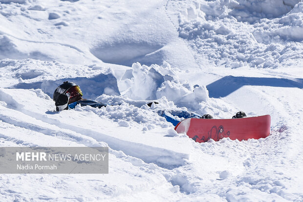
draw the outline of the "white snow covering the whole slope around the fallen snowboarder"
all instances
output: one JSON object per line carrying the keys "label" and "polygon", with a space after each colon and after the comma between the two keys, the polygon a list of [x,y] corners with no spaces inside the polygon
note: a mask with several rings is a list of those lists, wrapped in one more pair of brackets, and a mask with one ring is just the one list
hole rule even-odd
{"label": "white snow covering the whole slope around the fallen snowboarder", "polygon": [[[301,0],[0,0],[0,145],[109,147],[109,174],[0,174],[0,201],[303,201],[302,33]],[[108,106],[55,112],[63,81]],[[197,143],[158,110],[271,134]]]}

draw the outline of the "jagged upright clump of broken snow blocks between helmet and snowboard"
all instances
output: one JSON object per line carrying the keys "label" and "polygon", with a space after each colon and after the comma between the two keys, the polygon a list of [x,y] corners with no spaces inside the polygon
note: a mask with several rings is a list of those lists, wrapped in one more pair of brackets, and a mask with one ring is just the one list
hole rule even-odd
{"label": "jagged upright clump of broken snow blocks between helmet and snowboard", "polygon": [[208,101],[205,86],[194,87],[189,82],[181,82],[171,65],[164,62],[161,66],[152,64],[150,67],[133,63],[133,78],[126,79],[129,91],[125,93],[133,100],[157,100],[165,97],[177,106],[194,108],[200,102]]}

